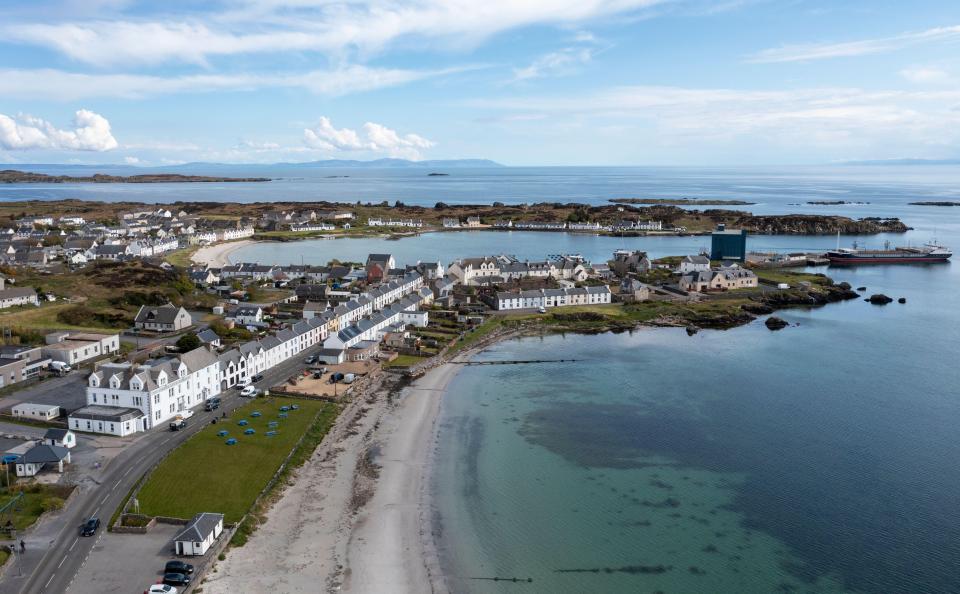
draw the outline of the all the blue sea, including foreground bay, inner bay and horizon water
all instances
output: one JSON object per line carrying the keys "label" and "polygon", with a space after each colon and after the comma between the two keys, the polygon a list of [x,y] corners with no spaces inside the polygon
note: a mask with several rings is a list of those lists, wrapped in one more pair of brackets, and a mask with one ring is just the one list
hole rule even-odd
{"label": "all the blue sea, including foreground bay, inner bay and horizon water", "polygon": [[[324,170],[269,184],[0,187],[0,199],[599,204],[741,199],[758,214],[898,217],[867,237],[751,236],[758,251],[960,248],[960,168]],[[310,177],[314,175],[314,177]],[[277,188],[283,191],[275,191]],[[819,206],[816,201],[858,204]],[[724,207],[727,208],[727,207]],[[429,233],[262,243],[234,261],[400,262],[615,249],[695,253],[701,237]],[[464,366],[442,405],[430,501],[454,592],[960,592],[960,261],[810,268],[862,299],[688,336],[643,328],[515,339]],[[515,579],[514,579],[515,578]]]}

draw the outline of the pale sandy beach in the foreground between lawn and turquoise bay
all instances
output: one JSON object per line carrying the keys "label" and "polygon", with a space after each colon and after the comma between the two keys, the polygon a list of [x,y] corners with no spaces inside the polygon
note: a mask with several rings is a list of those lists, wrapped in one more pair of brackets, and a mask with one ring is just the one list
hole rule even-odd
{"label": "pale sandy beach in the foreground between lawn and turquoise bay", "polygon": [[459,369],[445,364],[393,398],[380,386],[351,403],[204,591],[445,592],[432,554],[428,467],[443,391]]}

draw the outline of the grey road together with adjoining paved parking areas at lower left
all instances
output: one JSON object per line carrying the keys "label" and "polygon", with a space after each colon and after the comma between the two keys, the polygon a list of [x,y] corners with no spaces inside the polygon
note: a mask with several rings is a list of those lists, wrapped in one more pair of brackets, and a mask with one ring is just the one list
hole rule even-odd
{"label": "grey road together with adjoining paved parking areas at lower left", "polygon": [[[270,388],[299,373],[307,367],[303,358],[319,348],[308,349],[264,373],[264,378],[257,382],[257,387]],[[78,433],[80,443],[77,454],[80,463],[71,464],[68,470],[76,473],[75,477],[68,478],[76,479],[71,482],[78,485],[78,491],[63,510],[45,516],[25,535],[18,536],[18,540],[22,538],[26,542],[27,550],[16,559],[11,559],[10,567],[0,577],[0,594],[66,592],[87,563],[91,564],[89,571],[111,574],[131,572],[130,566],[117,565],[109,550],[97,549],[99,536],[80,538],[80,525],[87,518],[99,517],[103,522],[101,533],[105,531],[111,516],[127,493],[154,465],[215,417],[219,418],[223,412],[229,413],[247,402],[246,398],[238,395],[236,389],[228,390],[220,397],[222,404],[219,410],[205,412],[202,407],[194,409],[196,414],[182,431],[171,432],[158,428],[124,438]],[[85,447],[91,448],[91,453],[86,458],[82,454]],[[72,468],[73,466],[76,468]],[[140,569],[136,574],[138,579],[147,579],[144,584],[153,581],[148,579],[148,574],[152,571],[148,569],[149,563],[152,561],[142,564],[146,574],[141,575]],[[141,588],[134,591],[143,590]]]}

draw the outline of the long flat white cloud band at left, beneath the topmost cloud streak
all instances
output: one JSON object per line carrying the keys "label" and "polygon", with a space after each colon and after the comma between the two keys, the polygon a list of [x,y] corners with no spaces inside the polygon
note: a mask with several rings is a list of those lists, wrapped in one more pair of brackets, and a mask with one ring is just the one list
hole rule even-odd
{"label": "long flat white cloud band at left, beneath the topmost cloud streak", "polygon": [[280,74],[81,74],[63,70],[0,70],[0,96],[75,101],[91,97],[138,99],[175,93],[304,88],[317,95],[341,96],[444,76],[478,66],[445,70],[403,70],[350,65],[334,70]]}

